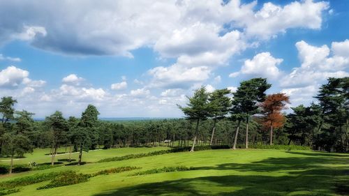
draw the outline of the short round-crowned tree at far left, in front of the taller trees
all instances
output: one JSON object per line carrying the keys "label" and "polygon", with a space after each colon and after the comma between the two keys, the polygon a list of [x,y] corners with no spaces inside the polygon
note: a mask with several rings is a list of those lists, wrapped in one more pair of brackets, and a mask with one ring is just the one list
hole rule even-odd
{"label": "short round-crowned tree at far left, in front of the taller trees", "polygon": [[5,133],[3,135],[3,148],[1,153],[5,156],[10,156],[10,171],[12,173],[13,169],[13,157],[14,156],[23,156],[24,153],[32,153],[33,146],[28,137],[24,135],[16,135],[14,133]]}

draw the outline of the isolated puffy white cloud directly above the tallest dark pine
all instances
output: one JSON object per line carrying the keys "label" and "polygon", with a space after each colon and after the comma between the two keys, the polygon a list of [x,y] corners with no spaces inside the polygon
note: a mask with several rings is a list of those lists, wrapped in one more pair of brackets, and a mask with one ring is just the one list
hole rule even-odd
{"label": "isolated puffy white cloud directly above the tallest dark pine", "polygon": [[282,61],[283,59],[275,59],[269,52],[262,52],[253,59],[246,60],[239,73],[276,79],[281,75],[278,66]]}

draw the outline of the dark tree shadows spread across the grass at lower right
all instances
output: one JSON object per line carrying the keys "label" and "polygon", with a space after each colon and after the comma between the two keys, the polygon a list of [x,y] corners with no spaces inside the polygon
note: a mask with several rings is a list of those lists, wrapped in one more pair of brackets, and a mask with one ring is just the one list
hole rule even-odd
{"label": "dark tree shadows spread across the grass at lower right", "polygon": [[[294,153],[295,154],[295,153]],[[106,195],[339,195],[349,194],[349,159],[345,156],[323,156],[302,153],[307,157],[267,158],[255,163],[226,163],[207,169],[260,172],[258,175],[205,176],[110,190]],[[326,167],[322,164],[331,164]],[[341,164],[341,165],[338,165]],[[337,165],[337,166],[336,166]],[[270,172],[278,172],[271,174]],[[191,172],[191,171],[188,171]],[[156,176],[154,176],[156,177]]]}

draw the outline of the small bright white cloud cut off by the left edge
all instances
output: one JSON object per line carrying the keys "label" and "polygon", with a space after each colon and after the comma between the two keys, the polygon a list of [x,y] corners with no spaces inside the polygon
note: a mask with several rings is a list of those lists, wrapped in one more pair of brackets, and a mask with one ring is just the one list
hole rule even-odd
{"label": "small bright white cloud cut off by the left edge", "polygon": [[29,76],[27,70],[9,66],[0,71],[0,87],[17,87]]}

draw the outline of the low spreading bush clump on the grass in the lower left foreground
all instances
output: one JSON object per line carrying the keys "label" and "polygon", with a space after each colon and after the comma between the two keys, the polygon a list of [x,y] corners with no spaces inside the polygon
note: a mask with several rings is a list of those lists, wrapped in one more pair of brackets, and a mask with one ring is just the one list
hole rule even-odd
{"label": "low spreading bush clump on the grass in the lower left foreground", "polygon": [[50,183],[40,186],[37,189],[54,188],[59,186],[69,186],[77,183],[83,183],[89,180],[89,174],[77,174],[75,171],[68,171],[64,175],[54,177]]}

